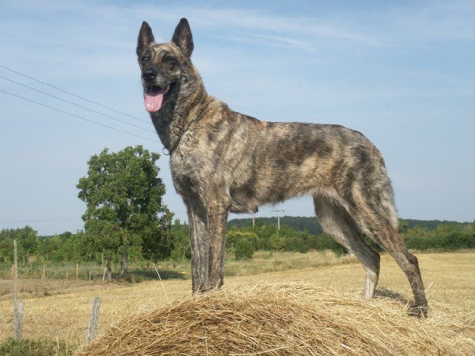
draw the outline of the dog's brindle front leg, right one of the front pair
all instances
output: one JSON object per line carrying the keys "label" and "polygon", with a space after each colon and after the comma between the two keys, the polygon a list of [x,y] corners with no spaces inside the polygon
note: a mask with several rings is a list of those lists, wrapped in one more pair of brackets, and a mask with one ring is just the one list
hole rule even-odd
{"label": "dog's brindle front leg, right one of the front pair", "polygon": [[208,208],[209,265],[208,289],[221,287],[224,283],[224,249],[228,211],[223,206]]}

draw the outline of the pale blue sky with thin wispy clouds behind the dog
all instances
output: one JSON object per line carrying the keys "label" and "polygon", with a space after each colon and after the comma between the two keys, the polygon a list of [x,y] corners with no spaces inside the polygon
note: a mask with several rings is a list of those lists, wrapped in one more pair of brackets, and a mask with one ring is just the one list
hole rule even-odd
{"label": "pale blue sky with thin wispy clouds behind the dog", "polygon": [[[474,221],[474,1],[1,0],[0,230],[81,230],[91,155],[162,153],[135,47],[142,21],[167,42],[182,17],[209,94],[264,121],[359,130],[384,156],[401,218]],[[158,165],[186,221],[169,158]],[[301,198],[256,217],[274,210],[313,216]]]}

